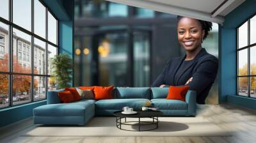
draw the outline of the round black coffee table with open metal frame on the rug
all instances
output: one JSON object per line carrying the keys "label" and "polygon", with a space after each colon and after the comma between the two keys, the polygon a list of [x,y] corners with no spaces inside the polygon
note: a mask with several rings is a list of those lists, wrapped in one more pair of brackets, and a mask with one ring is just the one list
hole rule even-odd
{"label": "round black coffee table with open metal frame on the rug", "polygon": [[[131,126],[138,126],[139,130],[127,130],[127,131],[150,131],[150,130],[155,130],[158,128],[158,123],[159,123],[159,116],[163,116],[163,112],[159,110],[138,110],[137,114],[122,114],[122,110],[114,112],[114,116],[116,116],[116,127],[119,128],[120,130],[126,130],[122,128],[122,125],[131,125]],[[132,118],[138,118],[138,121],[126,121],[127,117],[132,117]],[[141,121],[141,118],[151,118],[152,121]],[[124,122],[122,122],[122,119],[125,119]],[[138,123],[138,124],[131,124],[131,123]],[[154,125],[153,128],[150,128],[148,130],[141,130],[141,126],[148,126],[148,125]]]}

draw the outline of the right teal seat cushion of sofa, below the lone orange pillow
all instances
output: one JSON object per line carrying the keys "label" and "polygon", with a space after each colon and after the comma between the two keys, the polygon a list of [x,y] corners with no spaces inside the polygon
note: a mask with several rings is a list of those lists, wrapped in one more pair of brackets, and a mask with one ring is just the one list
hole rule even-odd
{"label": "right teal seat cushion of sofa, below the lone orange pillow", "polygon": [[188,104],[181,100],[152,99],[154,107],[159,110],[187,110]]}

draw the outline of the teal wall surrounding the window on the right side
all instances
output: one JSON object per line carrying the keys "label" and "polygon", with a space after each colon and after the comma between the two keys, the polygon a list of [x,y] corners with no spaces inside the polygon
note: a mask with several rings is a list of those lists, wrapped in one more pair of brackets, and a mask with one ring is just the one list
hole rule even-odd
{"label": "teal wall surrounding the window on the right side", "polygon": [[219,102],[234,103],[251,109],[256,108],[256,100],[236,96],[236,27],[256,14],[256,0],[246,0],[226,15],[221,26],[221,67]]}

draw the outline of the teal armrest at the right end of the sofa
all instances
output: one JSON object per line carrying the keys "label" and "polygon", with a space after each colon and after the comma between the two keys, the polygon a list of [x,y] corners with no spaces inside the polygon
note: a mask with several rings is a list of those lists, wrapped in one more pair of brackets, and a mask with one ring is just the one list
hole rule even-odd
{"label": "teal armrest at the right end of the sofa", "polygon": [[196,91],[189,90],[186,94],[186,103],[188,103],[188,115],[196,115]]}

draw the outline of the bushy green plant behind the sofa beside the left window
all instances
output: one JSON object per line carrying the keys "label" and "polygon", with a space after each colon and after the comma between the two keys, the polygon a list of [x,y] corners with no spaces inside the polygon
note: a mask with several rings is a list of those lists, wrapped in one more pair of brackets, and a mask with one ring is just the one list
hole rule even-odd
{"label": "bushy green plant behind the sofa beside the left window", "polygon": [[72,81],[72,59],[67,54],[51,58],[52,77],[56,80],[57,89],[70,87]]}

